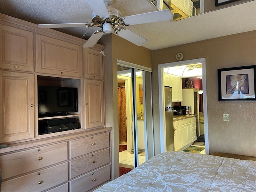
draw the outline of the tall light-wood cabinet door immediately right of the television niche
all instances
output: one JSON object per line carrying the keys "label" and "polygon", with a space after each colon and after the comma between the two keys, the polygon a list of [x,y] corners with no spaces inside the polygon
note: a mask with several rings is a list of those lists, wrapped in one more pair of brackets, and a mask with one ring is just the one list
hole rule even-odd
{"label": "tall light-wood cabinet door immediately right of the television niche", "polygon": [[85,80],[85,128],[104,126],[103,81]]}

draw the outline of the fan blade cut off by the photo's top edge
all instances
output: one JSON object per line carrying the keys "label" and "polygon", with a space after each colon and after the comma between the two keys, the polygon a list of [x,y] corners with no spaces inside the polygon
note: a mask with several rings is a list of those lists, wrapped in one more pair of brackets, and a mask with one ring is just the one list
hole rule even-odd
{"label": "fan blade cut off by the photo's top edge", "polygon": [[86,2],[96,15],[109,18],[108,10],[103,0],[86,0]]}

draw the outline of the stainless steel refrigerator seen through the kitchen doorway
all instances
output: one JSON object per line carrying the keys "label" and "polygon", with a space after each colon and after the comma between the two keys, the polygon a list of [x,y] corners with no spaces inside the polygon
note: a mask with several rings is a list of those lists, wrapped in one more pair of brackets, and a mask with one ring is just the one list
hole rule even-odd
{"label": "stainless steel refrigerator seen through the kitchen doorway", "polygon": [[164,86],[166,150],[174,151],[172,88]]}

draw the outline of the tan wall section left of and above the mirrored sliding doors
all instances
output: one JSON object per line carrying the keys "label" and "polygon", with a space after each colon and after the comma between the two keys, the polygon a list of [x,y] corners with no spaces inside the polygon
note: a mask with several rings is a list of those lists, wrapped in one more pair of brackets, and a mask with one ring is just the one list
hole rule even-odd
{"label": "tan wall section left of and above the mirrored sliding doors", "polygon": [[112,175],[119,176],[118,150],[118,95],[117,95],[117,60],[152,68],[152,51],[138,47],[123,38],[109,34],[102,37],[106,46],[104,57],[104,88],[106,101],[106,126],[112,130]]}

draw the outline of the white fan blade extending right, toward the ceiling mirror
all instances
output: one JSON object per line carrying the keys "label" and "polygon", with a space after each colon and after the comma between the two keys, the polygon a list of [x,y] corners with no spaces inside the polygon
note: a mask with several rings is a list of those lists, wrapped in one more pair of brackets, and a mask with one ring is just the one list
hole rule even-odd
{"label": "white fan blade extending right, toward the ceiling mirror", "polygon": [[170,10],[160,10],[137,15],[124,17],[125,24],[136,25],[143,23],[152,23],[160,21],[168,21],[172,19],[172,12]]}

